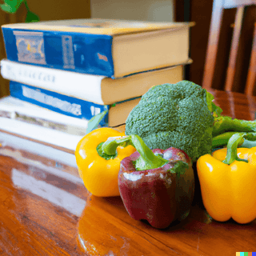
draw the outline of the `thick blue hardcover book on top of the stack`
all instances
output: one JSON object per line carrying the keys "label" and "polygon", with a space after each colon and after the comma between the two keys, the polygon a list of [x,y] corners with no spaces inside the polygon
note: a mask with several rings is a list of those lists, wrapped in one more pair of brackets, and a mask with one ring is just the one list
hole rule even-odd
{"label": "thick blue hardcover book on top of the stack", "polygon": [[187,62],[192,25],[74,19],[8,24],[2,34],[11,61],[120,78]]}

